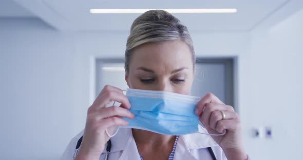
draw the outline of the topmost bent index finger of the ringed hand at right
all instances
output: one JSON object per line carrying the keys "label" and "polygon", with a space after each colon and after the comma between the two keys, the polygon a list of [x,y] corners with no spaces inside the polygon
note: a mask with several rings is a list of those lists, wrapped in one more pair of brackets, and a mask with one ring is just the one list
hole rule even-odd
{"label": "topmost bent index finger of the ringed hand at right", "polygon": [[217,104],[224,105],[224,103],[222,101],[220,101],[220,99],[217,96],[215,96],[212,93],[207,93],[198,102],[197,107],[195,109],[195,113],[197,115],[200,115],[203,111],[203,108],[204,108],[205,104],[207,104],[207,103],[217,103]]}

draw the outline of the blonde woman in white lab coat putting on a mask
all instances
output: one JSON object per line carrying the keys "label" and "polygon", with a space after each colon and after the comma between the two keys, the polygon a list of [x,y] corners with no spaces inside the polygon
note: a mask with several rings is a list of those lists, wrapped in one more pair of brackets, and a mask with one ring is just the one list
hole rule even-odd
{"label": "blonde woman in white lab coat putting on a mask", "polygon": [[[128,87],[190,94],[195,71],[194,47],[179,19],[163,10],[150,10],[139,16],[130,30],[125,51]],[[120,107],[106,107],[112,101],[120,102]],[[112,134],[117,126],[128,125],[123,117],[135,117],[130,108],[121,89],[105,86],[88,109],[84,131],[71,140],[62,159],[73,158],[82,135],[75,159],[248,159],[242,145],[239,115],[211,93],[200,99],[195,114],[209,133],[225,130],[221,136],[199,133],[176,136],[120,128],[110,138],[107,130]],[[106,157],[108,146],[111,150]]]}

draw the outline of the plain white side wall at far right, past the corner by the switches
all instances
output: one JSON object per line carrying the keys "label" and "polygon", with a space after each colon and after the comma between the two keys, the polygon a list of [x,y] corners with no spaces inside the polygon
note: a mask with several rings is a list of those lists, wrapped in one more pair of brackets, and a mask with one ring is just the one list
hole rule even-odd
{"label": "plain white side wall at far right, past the corner by the switches", "polygon": [[252,32],[251,105],[245,121],[273,127],[273,139],[248,139],[254,159],[301,157],[302,42],[303,9],[268,30]]}

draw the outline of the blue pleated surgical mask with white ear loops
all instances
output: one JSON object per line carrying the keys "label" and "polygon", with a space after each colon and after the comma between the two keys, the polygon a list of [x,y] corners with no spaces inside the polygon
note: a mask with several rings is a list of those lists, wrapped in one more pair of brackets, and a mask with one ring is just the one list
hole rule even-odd
{"label": "blue pleated surgical mask with white ear loops", "polygon": [[[135,118],[123,117],[129,123],[121,128],[136,128],[166,135],[198,132],[199,116],[195,114],[195,108],[200,97],[140,89],[127,89],[126,96],[131,105],[129,111],[135,114]],[[109,135],[107,130],[106,133],[109,137],[116,134]]]}

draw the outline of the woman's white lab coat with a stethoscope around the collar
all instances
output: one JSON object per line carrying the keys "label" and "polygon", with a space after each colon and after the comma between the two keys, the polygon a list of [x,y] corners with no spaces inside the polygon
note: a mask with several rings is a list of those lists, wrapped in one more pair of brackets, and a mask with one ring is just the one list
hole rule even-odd
{"label": "woman's white lab coat with a stethoscope around the collar", "polygon": [[[199,132],[207,133],[207,131],[199,126]],[[75,147],[78,139],[83,135],[83,131],[71,139],[61,159],[73,159]],[[214,141],[210,135],[200,133],[193,133],[187,135],[180,135],[175,151],[175,160],[184,159],[205,159],[211,160],[212,157],[207,147],[212,147],[214,154],[218,160],[227,159],[221,147]],[[157,153],[155,153],[157,154]],[[106,156],[106,146],[100,155],[100,160]],[[140,160],[140,155],[131,129],[120,128],[117,135],[111,138],[111,151],[109,160],[131,159]]]}

